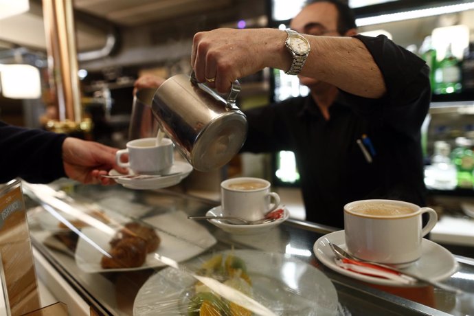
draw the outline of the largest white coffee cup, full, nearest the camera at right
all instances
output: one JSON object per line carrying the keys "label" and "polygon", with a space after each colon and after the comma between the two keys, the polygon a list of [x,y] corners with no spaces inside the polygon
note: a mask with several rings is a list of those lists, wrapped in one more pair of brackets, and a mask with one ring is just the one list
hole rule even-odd
{"label": "largest white coffee cup, full, nearest the camera at right", "polygon": [[[422,214],[429,220],[422,227]],[[397,267],[416,262],[422,237],[436,225],[438,215],[429,207],[394,200],[362,200],[344,206],[348,251],[363,260]]]}

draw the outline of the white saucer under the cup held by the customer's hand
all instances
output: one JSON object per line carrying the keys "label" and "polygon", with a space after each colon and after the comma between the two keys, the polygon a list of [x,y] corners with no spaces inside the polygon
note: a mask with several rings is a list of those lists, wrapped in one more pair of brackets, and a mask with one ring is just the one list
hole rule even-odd
{"label": "white saucer under the cup held by the customer's hand", "polygon": [[[155,190],[161,188],[168,188],[172,185],[177,185],[192,171],[192,166],[185,161],[174,161],[173,166],[171,167],[170,173],[173,173],[169,176],[163,175],[158,178],[151,179],[127,179],[127,178],[115,178],[114,181],[122,184],[125,188],[135,189],[135,190]],[[110,170],[109,175],[118,176],[120,172],[117,170]],[[130,173],[129,173],[130,174]],[[128,175],[128,174],[124,174]]]}

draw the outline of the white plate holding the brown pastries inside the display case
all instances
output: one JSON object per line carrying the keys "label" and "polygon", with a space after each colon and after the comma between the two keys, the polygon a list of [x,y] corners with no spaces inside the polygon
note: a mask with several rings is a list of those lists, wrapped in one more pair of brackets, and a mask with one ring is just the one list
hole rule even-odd
{"label": "white plate holding the brown pastries inside the display case", "polygon": [[[217,242],[216,238],[207,232],[207,229],[199,223],[190,221],[188,215],[182,211],[148,217],[144,221],[156,227],[156,232],[159,238],[161,238],[160,245],[155,253],[176,262],[188,260],[212,247]],[[109,251],[109,241],[113,238],[113,234],[106,234],[106,232],[93,227],[85,227],[82,229],[82,233],[97,246],[95,247],[95,245],[84,238],[79,238],[75,257],[76,263],[82,271],[89,273],[132,271],[166,266],[166,264],[155,258],[155,253],[149,253],[142,267],[103,269],[100,266],[100,260],[103,253]]]}

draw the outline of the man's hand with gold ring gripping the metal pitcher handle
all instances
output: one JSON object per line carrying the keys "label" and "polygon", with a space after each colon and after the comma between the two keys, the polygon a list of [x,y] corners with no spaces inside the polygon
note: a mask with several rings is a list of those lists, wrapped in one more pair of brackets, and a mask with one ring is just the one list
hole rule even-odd
{"label": "man's hand with gold ring gripping the metal pitcher handle", "polygon": [[199,82],[227,92],[234,80],[265,67],[289,69],[286,32],[275,29],[217,29],[199,32],[192,43],[192,67]]}

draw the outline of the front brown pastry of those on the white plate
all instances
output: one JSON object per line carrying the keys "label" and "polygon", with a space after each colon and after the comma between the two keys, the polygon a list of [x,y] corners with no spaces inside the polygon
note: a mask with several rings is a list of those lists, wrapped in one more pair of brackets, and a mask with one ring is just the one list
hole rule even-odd
{"label": "front brown pastry of those on the white plate", "polygon": [[119,240],[109,251],[109,256],[102,256],[100,265],[104,269],[141,267],[146,260],[146,242],[142,238],[124,238]]}

